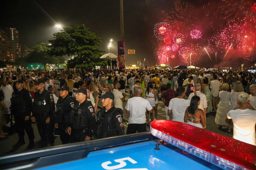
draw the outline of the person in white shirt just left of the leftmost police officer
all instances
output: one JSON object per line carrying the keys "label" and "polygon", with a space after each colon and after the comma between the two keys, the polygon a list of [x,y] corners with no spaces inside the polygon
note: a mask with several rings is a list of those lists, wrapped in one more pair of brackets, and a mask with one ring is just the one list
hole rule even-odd
{"label": "person in white shirt just left of the leftmost police officer", "polygon": [[13,95],[13,88],[12,86],[9,84],[9,77],[8,76],[4,76],[3,78],[3,82],[2,82],[2,86],[1,89],[3,91],[4,94],[4,102],[7,105],[8,108],[8,114],[11,114],[10,111],[10,107],[11,107],[11,98]]}

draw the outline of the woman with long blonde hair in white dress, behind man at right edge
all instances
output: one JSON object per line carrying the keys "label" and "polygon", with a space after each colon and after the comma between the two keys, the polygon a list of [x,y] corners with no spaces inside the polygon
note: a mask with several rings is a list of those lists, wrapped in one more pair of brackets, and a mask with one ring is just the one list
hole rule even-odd
{"label": "woman with long blonde hair in white dress, behind man at right edge", "polygon": [[[243,84],[240,81],[237,81],[234,85],[234,90],[231,91],[231,99],[230,99],[230,106],[231,110],[233,110],[238,105],[238,96],[239,94],[243,93]],[[227,132],[230,133],[231,127],[233,125],[232,119],[228,122],[228,130]]]}

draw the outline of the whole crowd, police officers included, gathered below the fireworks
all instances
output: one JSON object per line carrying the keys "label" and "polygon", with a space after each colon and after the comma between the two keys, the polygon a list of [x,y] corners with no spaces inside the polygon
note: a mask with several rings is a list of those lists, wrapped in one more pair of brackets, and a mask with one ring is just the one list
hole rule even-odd
{"label": "whole crowd, police officers included, gathered below the fireworks", "polygon": [[[8,135],[2,126],[12,121],[5,115],[14,115],[19,134],[14,147],[24,145],[25,130],[28,149],[33,148],[31,122],[35,121],[42,147],[47,146],[47,138],[54,145],[54,128],[62,144],[145,132],[150,121],[158,119],[159,101],[165,105],[167,120],[206,128],[205,115],[213,112],[219,129],[230,133],[234,127],[235,139],[256,145],[256,81],[255,74],[247,71],[34,70],[3,72],[0,84],[0,137]],[[125,132],[126,90],[129,120]],[[102,108],[98,108],[99,100]]]}

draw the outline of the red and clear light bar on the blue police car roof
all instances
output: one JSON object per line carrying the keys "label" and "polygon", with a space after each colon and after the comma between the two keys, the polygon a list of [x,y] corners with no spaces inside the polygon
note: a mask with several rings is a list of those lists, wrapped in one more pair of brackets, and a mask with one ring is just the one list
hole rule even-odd
{"label": "red and clear light bar on the blue police car roof", "polygon": [[256,169],[256,147],[186,123],[154,120],[150,132],[223,169]]}

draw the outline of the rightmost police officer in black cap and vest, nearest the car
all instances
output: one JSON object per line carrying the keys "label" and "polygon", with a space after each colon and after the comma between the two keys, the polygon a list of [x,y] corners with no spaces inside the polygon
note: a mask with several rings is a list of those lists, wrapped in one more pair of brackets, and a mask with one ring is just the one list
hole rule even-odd
{"label": "rightmost police officer in black cap and vest, nearest the car", "polygon": [[102,98],[103,108],[97,113],[97,138],[124,135],[123,111],[113,106],[114,94],[106,92],[99,98]]}

